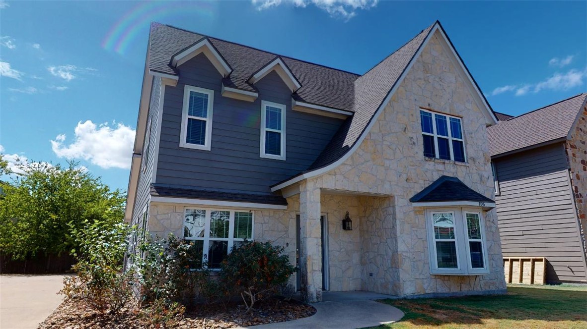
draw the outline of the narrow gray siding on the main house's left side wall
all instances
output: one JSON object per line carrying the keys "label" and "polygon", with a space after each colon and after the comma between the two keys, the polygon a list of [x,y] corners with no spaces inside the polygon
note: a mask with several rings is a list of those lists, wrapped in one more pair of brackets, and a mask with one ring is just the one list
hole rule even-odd
{"label": "narrow gray siding on the main house's left side wall", "polygon": [[[149,136],[149,155],[147,156],[146,167],[142,167],[143,161],[141,160],[141,168],[139,172],[139,182],[137,183],[137,193],[134,199],[133,218],[132,225],[141,227],[141,216],[143,215],[144,207],[149,201],[150,184],[153,177],[153,164],[155,159],[155,153],[157,152],[157,120],[159,117],[160,109],[160,95],[161,95],[161,78],[153,78],[153,87],[151,88],[151,101],[149,103],[149,117],[151,118],[151,128]],[[149,122],[147,118],[147,123]],[[147,132],[147,129],[145,129]],[[145,142],[147,138],[144,139]],[[144,148],[144,144],[143,144]],[[147,155],[147,151],[143,149],[143,156]]]}

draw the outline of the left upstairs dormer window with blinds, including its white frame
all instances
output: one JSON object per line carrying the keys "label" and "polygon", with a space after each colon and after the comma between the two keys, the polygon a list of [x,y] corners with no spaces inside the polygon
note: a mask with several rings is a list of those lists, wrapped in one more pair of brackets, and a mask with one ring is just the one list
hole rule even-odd
{"label": "left upstairs dormer window with blinds, including its white frame", "polygon": [[210,150],[214,91],[185,85],[181,114],[182,148]]}

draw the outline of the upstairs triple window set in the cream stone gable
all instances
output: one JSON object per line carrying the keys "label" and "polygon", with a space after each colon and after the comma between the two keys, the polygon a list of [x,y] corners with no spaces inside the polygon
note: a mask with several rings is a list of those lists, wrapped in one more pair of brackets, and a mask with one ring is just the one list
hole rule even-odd
{"label": "upstairs triple window set in the cream stone gable", "polygon": [[424,156],[465,162],[461,119],[420,109]]}

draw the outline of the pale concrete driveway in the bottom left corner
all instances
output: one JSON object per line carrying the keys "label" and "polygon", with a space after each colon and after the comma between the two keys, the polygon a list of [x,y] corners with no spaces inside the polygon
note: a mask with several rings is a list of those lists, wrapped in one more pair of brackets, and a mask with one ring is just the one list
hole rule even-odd
{"label": "pale concrete driveway in the bottom left corner", "polygon": [[63,300],[63,275],[0,275],[0,328],[34,329]]}

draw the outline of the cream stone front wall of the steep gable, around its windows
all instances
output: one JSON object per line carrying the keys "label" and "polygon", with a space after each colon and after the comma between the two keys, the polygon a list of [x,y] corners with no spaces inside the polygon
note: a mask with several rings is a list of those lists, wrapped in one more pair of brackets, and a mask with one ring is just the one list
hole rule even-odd
{"label": "cream stone front wall of the steep gable, around its windows", "polygon": [[[355,153],[330,172],[309,179],[312,182],[308,185],[316,189],[394,196],[397,218],[394,225],[387,224],[393,221],[389,218],[393,214],[390,207],[387,211],[373,211],[370,217],[390,227],[381,237],[371,237],[374,246],[369,255],[373,255],[375,245],[389,243],[390,246],[382,246],[382,249],[389,248],[392,257],[367,257],[369,261],[365,261],[370,268],[366,273],[374,274],[373,277],[363,276],[363,282],[365,287],[373,287],[376,292],[405,296],[505,289],[495,210],[484,212],[490,273],[439,276],[430,275],[424,210],[412,207],[409,202],[411,196],[443,174],[458,177],[471,189],[494,199],[484,124],[487,119],[441,42],[435,35],[424,47]],[[463,117],[467,163],[424,158],[420,107]],[[392,233],[393,230],[396,232]],[[387,240],[393,237],[397,237],[395,242]],[[390,282],[394,278],[399,278],[398,283]]]}

